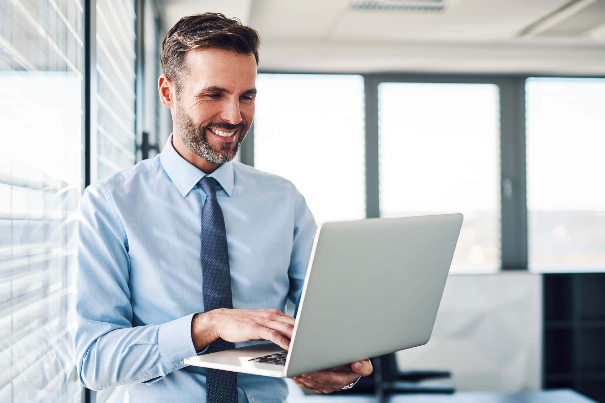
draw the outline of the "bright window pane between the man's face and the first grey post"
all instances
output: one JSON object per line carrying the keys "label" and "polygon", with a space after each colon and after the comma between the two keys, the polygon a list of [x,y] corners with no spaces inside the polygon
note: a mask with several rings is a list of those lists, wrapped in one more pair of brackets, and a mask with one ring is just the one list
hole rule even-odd
{"label": "bright window pane between the man's face and the first grey post", "polygon": [[290,179],[318,223],[365,217],[364,80],[259,74],[254,166]]}

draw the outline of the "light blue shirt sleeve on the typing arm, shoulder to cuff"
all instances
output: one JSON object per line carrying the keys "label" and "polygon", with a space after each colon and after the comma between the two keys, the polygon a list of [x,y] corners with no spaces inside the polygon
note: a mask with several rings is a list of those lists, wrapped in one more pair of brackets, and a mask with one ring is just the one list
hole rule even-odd
{"label": "light blue shirt sleeve on the typing arm, shoulder to cuff", "polygon": [[105,184],[88,187],[77,221],[76,367],[86,387],[159,381],[196,355],[194,314],[132,327],[128,239]]}

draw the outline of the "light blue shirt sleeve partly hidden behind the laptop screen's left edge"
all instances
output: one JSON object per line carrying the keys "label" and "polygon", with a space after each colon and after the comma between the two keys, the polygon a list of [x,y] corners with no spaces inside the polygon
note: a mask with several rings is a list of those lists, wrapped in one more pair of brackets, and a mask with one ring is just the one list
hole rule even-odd
{"label": "light blue shirt sleeve partly hidden behind the laptop screen's left edge", "polygon": [[288,277],[290,278],[288,299],[296,306],[294,311],[296,317],[317,225],[304,197],[294,185],[292,187],[294,190],[294,232],[290,267],[288,268]]}

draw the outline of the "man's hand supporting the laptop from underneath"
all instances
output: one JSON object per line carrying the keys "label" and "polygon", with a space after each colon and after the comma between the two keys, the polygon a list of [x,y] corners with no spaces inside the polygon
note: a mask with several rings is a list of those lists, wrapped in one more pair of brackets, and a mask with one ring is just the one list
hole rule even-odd
{"label": "man's hand supporting the laptop from underneath", "polygon": [[355,381],[359,375],[368,376],[372,373],[372,364],[369,359],[356,361],[333,367],[325,371],[304,373],[294,376],[292,380],[302,388],[313,389],[317,393],[332,393]]}

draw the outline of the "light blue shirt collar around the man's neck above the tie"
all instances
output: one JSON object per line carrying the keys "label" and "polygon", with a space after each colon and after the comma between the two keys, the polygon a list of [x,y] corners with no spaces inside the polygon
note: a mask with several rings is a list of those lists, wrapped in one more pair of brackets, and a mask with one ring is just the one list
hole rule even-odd
{"label": "light blue shirt collar around the man's neck above the tie", "polygon": [[231,161],[221,164],[214,172],[206,175],[177,153],[177,150],[172,146],[172,133],[168,136],[162,153],[160,153],[160,161],[162,161],[162,166],[168,173],[168,177],[183,197],[187,196],[204,176],[211,176],[216,179],[227,193],[227,196],[231,196],[233,192],[234,178]]}

